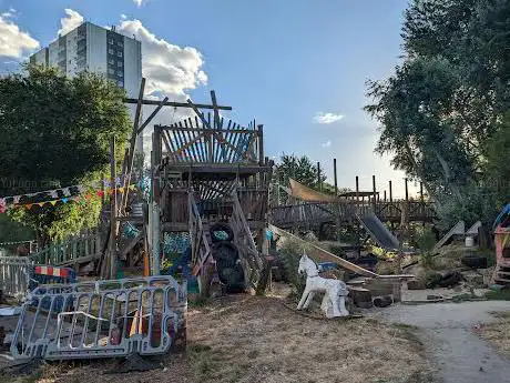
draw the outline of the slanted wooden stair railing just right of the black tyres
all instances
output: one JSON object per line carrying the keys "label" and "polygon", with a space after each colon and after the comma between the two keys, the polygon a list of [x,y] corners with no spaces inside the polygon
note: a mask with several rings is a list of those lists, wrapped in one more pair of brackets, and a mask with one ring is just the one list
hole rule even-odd
{"label": "slanted wooden stair railing just right of the black tyres", "polygon": [[236,191],[232,193],[232,200],[231,226],[234,231],[234,243],[239,250],[239,259],[244,269],[246,285],[254,286],[258,282],[264,263],[253,240],[252,231],[237,199]]}

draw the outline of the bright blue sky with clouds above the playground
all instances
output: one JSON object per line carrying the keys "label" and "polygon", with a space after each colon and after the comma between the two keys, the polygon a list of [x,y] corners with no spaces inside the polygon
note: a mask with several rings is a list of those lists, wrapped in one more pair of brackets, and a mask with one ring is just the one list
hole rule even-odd
{"label": "bright blue sky with clouds above the playground", "polygon": [[354,188],[359,175],[361,189],[371,189],[376,174],[378,189],[392,180],[402,195],[404,174],[373,153],[377,124],[361,108],[365,82],[388,77],[400,61],[406,3],[0,0],[0,42],[12,40],[0,48],[0,70],[16,70],[37,43],[47,46],[80,18],[115,24],[142,40],[144,75],[159,79],[154,94],[207,101],[214,89],[234,120],[264,124],[268,157],[307,154],[332,180],[336,158],[341,187]]}

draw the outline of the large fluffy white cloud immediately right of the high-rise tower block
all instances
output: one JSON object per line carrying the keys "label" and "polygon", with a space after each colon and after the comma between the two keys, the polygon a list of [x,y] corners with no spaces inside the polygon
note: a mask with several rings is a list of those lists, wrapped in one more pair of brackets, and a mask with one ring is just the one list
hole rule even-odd
{"label": "large fluffy white cloud immediately right of the high-rise tower block", "polygon": [[118,32],[135,36],[142,42],[143,75],[149,94],[185,95],[188,89],[207,83],[202,70],[202,53],[192,47],[178,47],[151,33],[140,20],[124,20]]}

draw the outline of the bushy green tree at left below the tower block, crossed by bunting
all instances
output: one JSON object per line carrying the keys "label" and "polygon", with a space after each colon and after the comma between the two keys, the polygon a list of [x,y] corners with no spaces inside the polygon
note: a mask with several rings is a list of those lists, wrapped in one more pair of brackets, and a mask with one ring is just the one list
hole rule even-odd
{"label": "bushy green tree at left below the tower block, crossed by bunting", "polygon": [[[119,159],[128,139],[124,95],[113,82],[89,72],[68,79],[57,69],[27,65],[0,78],[0,179],[12,181],[0,185],[0,195],[100,179],[109,169],[110,139],[115,137]],[[99,208],[90,199],[13,209],[10,215],[44,243],[95,225]]]}

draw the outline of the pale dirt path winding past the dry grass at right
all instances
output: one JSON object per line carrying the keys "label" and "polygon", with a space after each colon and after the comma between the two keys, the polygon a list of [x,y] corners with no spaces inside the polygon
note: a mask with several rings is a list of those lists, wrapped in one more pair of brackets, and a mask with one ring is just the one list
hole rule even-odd
{"label": "pale dirt path winding past the dry grass at right", "polygon": [[394,305],[374,318],[418,326],[443,383],[510,382],[510,360],[471,332],[494,319],[489,312],[510,310],[510,302]]}

